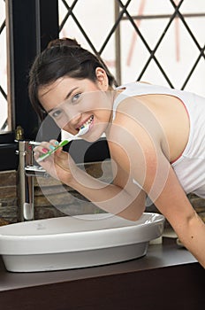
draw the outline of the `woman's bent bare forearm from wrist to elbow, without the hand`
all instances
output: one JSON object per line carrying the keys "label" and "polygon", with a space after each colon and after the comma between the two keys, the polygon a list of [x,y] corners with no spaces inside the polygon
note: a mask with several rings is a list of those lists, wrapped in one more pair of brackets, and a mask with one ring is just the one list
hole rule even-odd
{"label": "woman's bent bare forearm from wrist to elbow, without the hand", "polygon": [[77,168],[69,186],[103,210],[127,220],[138,220],[145,210],[144,191],[133,184],[121,169],[118,169],[114,181],[107,184]]}

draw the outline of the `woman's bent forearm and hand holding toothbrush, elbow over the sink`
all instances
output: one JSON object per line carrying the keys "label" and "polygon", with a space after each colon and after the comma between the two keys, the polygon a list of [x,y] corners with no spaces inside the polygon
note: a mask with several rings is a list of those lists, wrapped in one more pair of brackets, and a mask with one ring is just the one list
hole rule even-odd
{"label": "woman's bent forearm and hand holding toothbrush, elbow over the sink", "polygon": [[[35,148],[35,159],[43,146]],[[36,156],[37,155],[37,156]],[[138,220],[145,209],[146,194],[129,178],[129,175],[116,163],[113,169],[112,183],[102,182],[77,167],[70,155],[58,150],[54,155],[41,162],[41,165],[52,176],[77,190],[85,198],[109,213],[118,214],[130,220]],[[110,173],[112,173],[110,171]]]}

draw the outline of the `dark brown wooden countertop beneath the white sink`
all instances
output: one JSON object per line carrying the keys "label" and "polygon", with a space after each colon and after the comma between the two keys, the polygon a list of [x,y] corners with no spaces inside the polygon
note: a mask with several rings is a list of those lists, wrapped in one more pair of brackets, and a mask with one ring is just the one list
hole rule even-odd
{"label": "dark brown wooden countertop beneath the white sink", "polygon": [[204,269],[167,237],[163,244],[150,244],[143,258],[102,267],[11,273],[0,259],[4,310],[150,310],[155,305],[197,310],[204,303],[204,287]]}

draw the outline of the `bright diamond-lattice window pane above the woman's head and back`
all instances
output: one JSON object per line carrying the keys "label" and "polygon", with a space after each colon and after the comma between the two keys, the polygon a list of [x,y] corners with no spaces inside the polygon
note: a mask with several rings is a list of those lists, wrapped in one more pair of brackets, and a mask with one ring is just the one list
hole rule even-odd
{"label": "bright diamond-lattice window pane above the woman's head and back", "polygon": [[[205,96],[205,1],[58,0],[59,36],[103,58],[118,83],[149,81]],[[63,21],[63,22],[62,22]]]}

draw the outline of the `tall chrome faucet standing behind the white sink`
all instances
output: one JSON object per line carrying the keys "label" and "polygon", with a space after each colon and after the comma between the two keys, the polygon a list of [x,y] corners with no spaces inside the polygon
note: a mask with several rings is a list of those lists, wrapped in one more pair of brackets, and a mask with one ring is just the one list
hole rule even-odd
{"label": "tall chrome faucet standing behind the white sink", "polygon": [[19,167],[18,167],[18,200],[19,221],[34,220],[34,176],[48,176],[42,167],[34,166],[34,141],[18,141]]}

